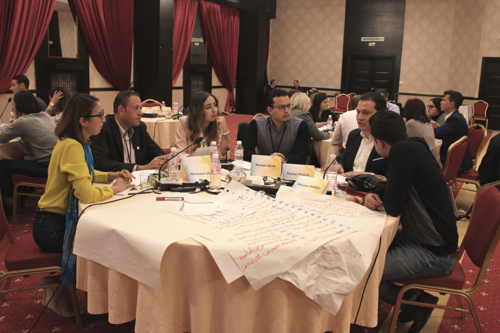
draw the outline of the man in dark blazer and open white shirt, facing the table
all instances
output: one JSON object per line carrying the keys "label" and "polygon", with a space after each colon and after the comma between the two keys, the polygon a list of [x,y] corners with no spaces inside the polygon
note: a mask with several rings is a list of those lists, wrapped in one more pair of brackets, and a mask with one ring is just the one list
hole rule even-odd
{"label": "man in dark blazer and open white shirt, facing the table", "polygon": [[385,110],[382,95],[366,92],[357,104],[357,129],[353,129],[345,144],[345,151],[337,157],[338,173],[344,177],[359,174],[387,176],[387,159],[378,155],[371,139],[369,118],[377,111]]}

